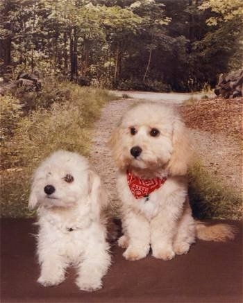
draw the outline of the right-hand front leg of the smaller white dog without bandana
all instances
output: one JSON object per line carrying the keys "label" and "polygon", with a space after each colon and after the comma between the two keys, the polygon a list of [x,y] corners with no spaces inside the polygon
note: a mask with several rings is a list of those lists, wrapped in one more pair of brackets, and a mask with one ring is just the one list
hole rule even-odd
{"label": "right-hand front leg of the smaller white dog without bandana", "polygon": [[102,277],[110,266],[108,244],[100,243],[101,239],[89,243],[82,261],[78,263],[76,285],[81,291],[98,291],[102,287]]}

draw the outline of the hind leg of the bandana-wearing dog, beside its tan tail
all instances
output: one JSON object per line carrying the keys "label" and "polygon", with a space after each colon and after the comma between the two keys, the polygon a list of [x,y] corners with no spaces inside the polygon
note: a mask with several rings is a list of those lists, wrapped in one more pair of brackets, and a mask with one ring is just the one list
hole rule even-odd
{"label": "hind leg of the bandana-wearing dog, beside its tan tail", "polygon": [[178,222],[178,230],[174,239],[174,252],[176,254],[186,254],[190,250],[190,246],[196,239],[196,227],[194,218],[192,218],[192,210],[189,201],[185,202],[183,215]]}

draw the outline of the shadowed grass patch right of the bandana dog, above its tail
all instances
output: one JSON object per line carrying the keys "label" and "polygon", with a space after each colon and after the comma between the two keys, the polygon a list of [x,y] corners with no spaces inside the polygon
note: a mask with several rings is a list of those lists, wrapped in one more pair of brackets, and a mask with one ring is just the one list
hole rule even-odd
{"label": "shadowed grass patch right of the bandana dog, above its tail", "polygon": [[242,219],[242,196],[210,175],[199,160],[189,171],[189,196],[196,218]]}

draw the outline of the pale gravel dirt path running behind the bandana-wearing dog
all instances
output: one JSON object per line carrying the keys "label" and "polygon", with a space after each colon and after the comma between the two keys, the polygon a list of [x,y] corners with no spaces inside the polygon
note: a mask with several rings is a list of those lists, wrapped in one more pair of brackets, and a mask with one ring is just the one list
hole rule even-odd
{"label": "pale gravel dirt path running behind the bandana-wearing dog", "polygon": [[[110,199],[114,208],[117,205],[115,187],[116,168],[112,162],[107,141],[110,132],[115,128],[121,116],[124,115],[128,107],[137,102],[141,102],[141,100],[129,98],[108,103],[103,108],[101,117],[94,127],[90,161],[99,175],[101,175],[103,183],[110,193]],[[160,100],[160,102],[169,106],[173,105],[170,102],[168,103],[168,100]],[[178,101],[175,101],[175,103],[178,104]],[[240,156],[241,150],[239,144],[235,144],[234,141],[227,139],[221,134],[212,134],[201,130],[190,131],[195,149],[201,156],[203,165],[228,187],[241,190],[242,157]]]}

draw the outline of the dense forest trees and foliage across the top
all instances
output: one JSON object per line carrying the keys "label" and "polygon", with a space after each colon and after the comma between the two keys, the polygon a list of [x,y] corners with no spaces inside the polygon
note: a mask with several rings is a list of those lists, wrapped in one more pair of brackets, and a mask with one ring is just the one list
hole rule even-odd
{"label": "dense forest trees and foliage across the top", "polygon": [[242,64],[241,0],[1,0],[1,73],[190,91]]}

